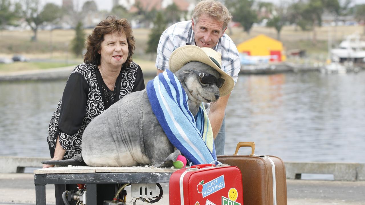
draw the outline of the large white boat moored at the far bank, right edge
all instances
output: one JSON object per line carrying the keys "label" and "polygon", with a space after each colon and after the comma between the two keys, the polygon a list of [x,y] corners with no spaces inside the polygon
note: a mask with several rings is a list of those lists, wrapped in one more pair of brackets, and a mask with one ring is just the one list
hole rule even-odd
{"label": "large white boat moored at the far bank, right edge", "polygon": [[360,41],[360,35],[351,34],[346,36],[337,49],[331,49],[332,61],[345,62],[353,61],[364,62],[365,58],[365,42]]}

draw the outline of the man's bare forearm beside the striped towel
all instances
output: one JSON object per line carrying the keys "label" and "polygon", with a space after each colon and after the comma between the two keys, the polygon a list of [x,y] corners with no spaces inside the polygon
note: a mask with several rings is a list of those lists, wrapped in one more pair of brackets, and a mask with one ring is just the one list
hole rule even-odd
{"label": "man's bare forearm beside the striped towel", "polygon": [[222,125],[224,113],[226,111],[228,98],[230,95],[231,95],[231,93],[229,93],[223,97],[220,97],[218,99],[218,101],[216,101],[214,103],[212,103],[212,102],[210,103],[208,117],[209,117],[210,124],[212,126],[214,139],[217,137],[220,126]]}

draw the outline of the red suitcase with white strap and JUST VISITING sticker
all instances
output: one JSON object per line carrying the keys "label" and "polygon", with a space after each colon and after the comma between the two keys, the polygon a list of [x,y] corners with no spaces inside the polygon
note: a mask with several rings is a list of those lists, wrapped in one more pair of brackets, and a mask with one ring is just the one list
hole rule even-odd
{"label": "red suitcase with white strap and JUST VISITING sticker", "polygon": [[226,164],[175,171],[169,181],[169,201],[170,205],[241,205],[241,171]]}

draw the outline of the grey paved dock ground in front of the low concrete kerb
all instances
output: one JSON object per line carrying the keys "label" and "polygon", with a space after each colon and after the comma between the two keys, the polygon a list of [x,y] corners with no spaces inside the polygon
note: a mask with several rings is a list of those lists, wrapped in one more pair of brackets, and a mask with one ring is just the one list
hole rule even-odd
{"label": "grey paved dock ground in front of the low concrete kerb", "polygon": [[[168,185],[162,187],[164,197],[156,205],[169,204]],[[365,181],[287,179],[287,190],[288,205],[365,205]],[[46,185],[46,201],[55,204],[53,185]],[[0,204],[35,204],[34,174],[0,174]],[[146,205],[141,201],[136,204]]]}

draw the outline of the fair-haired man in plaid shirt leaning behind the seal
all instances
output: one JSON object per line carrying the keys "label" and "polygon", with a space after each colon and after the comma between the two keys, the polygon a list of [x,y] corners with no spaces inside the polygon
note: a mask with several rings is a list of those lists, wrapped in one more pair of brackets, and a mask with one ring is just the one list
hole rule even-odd
{"label": "fair-haired man in plaid shirt leaning behind the seal", "polygon": [[[196,45],[209,47],[222,54],[222,70],[237,81],[241,63],[237,47],[224,33],[232,16],[219,1],[200,1],[193,11],[191,21],[178,22],[167,28],[161,35],[157,48],[155,66],[157,74],[169,68],[169,57],[178,47]],[[217,155],[224,154],[225,126],[224,115],[230,94],[211,103],[209,120],[213,129]]]}

